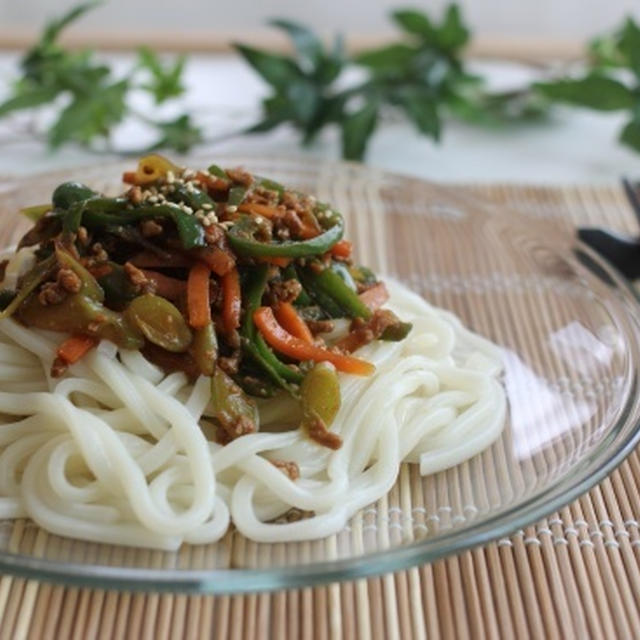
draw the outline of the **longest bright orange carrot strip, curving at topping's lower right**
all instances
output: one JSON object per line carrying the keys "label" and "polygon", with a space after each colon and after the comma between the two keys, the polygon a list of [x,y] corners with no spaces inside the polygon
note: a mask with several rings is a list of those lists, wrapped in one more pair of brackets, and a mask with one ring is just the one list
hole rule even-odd
{"label": "longest bright orange carrot strip, curving at topping's lower right", "polygon": [[253,321],[267,343],[290,358],[331,362],[339,371],[360,376],[369,376],[376,369],[365,360],[329,351],[292,336],[278,324],[271,307],[258,308],[253,314]]}

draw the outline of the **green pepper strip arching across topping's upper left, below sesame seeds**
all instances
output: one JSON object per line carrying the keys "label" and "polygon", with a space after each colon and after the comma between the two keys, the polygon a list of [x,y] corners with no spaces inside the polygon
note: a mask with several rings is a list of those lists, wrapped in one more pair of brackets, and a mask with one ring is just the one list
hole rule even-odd
{"label": "green pepper strip arching across topping's upper left, below sesame seeds", "polygon": [[175,223],[184,249],[205,246],[204,228],[200,221],[185,213],[177,205],[164,204],[126,209],[127,203],[128,201],[122,198],[85,200],[78,205],[81,209],[79,216],[76,216],[74,211],[69,212],[69,215],[74,217],[72,222],[70,220],[67,229],[77,231],[80,224],[95,228],[133,224],[146,218],[165,218],[171,219]]}

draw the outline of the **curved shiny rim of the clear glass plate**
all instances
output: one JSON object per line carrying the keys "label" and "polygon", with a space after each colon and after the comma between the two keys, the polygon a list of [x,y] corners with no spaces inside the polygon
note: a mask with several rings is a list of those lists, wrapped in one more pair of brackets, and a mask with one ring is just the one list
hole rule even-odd
{"label": "curved shiny rim of the clear glass plate", "polygon": [[[575,243],[581,251],[611,277],[614,284],[625,291],[640,311],[640,297],[622,275],[604,258],[595,254],[579,241]],[[619,434],[627,423],[629,403],[633,402],[634,390],[629,394],[625,411],[593,452],[596,460],[599,453],[609,446],[609,441]],[[637,390],[636,390],[637,391]],[[640,421],[629,429],[612,455],[595,470],[587,465],[577,476],[565,475],[560,483],[531,496],[530,499],[513,505],[477,524],[452,531],[432,539],[415,542],[362,556],[327,562],[314,562],[297,567],[270,569],[214,569],[171,570],[130,569],[105,565],[61,565],[44,558],[23,554],[0,552],[0,572],[27,579],[45,580],[70,586],[109,588],[125,591],[164,591],[181,593],[231,594],[291,589],[314,586],[330,582],[355,580],[388,572],[408,569],[419,564],[433,562],[443,557],[461,553],[467,549],[487,544],[511,535],[550,513],[570,504],[585,494],[613,472],[640,443]],[[565,485],[568,484],[567,487]]]}

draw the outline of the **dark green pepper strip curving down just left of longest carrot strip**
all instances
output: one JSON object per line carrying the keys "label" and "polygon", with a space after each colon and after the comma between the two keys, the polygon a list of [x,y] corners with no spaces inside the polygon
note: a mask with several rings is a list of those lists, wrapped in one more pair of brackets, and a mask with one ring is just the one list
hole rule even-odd
{"label": "dark green pepper strip curving down just left of longest carrot strip", "polygon": [[245,349],[256,363],[269,374],[278,386],[295,395],[296,392],[289,383],[299,384],[304,379],[304,376],[276,357],[253,323],[253,314],[262,303],[262,294],[267,286],[268,272],[269,266],[266,264],[257,267],[245,288],[243,297],[246,300],[246,309],[240,335],[243,338],[242,342]]}

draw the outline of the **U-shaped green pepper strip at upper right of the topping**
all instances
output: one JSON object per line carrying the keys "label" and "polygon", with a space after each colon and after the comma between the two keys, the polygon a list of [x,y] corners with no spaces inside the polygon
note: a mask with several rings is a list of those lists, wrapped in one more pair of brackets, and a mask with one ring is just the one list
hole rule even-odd
{"label": "U-shaped green pepper strip at upper right of the topping", "polygon": [[260,242],[255,239],[258,225],[251,216],[241,216],[240,220],[227,231],[227,238],[233,250],[251,258],[306,258],[326,253],[342,238],[344,223],[342,216],[331,218],[333,225],[324,233],[309,240],[299,242]]}

